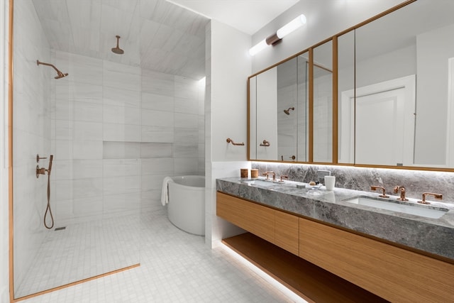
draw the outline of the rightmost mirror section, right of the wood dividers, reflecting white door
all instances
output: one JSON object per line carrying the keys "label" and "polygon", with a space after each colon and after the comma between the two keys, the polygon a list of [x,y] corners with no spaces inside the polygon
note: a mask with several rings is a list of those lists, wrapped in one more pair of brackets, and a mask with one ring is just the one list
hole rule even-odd
{"label": "rightmost mirror section, right of the wood dividers, reflecting white door", "polygon": [[454,167],[453,11],[418,0],[355,30],[354,94],[339,74],[339,162]]}

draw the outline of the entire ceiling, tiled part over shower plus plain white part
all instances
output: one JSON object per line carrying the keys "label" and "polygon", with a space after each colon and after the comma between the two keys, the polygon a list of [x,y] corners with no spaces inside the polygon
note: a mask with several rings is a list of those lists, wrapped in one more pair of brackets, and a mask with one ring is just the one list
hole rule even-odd
{"label": "entire ceiling, tiled part over shower plus plain white part", "polygon": [[299,0],[32,1],[52,50],[200,79],[209,18],[252,34]]}

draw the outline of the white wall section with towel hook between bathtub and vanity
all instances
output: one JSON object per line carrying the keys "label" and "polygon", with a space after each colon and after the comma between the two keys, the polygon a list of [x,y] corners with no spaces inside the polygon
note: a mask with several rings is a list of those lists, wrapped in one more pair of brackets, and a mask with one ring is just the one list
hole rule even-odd
{"label": "white wall section with towel hook between bathtub and vanity", "polygon": [[[216,216],[216,178],[240,176],[247,162],[247,78],[250,36],[212,20],[206,28],[206,243],[216,245],[238,228]],[[244,146],[226,143],[232,138]]]}

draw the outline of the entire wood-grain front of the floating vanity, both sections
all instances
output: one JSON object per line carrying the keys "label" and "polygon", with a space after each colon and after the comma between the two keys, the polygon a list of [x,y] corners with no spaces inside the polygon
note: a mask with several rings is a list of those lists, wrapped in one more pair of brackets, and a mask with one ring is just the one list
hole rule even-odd
{"label": "entire wood-grain front of the floating vanity, both sections", "polygon": [[454,264],[217,192],[217,215],[391,302],[454,302]]}

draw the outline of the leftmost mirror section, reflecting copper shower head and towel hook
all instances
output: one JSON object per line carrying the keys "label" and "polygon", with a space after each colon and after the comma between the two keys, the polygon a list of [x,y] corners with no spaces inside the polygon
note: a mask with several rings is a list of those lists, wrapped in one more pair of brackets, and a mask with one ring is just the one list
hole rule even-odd
{"label": "leftmost mirror section, reflecting copper shower head and towel hook", "polygon": [[306,161],[307,54],[249,77],[250,159]]}

